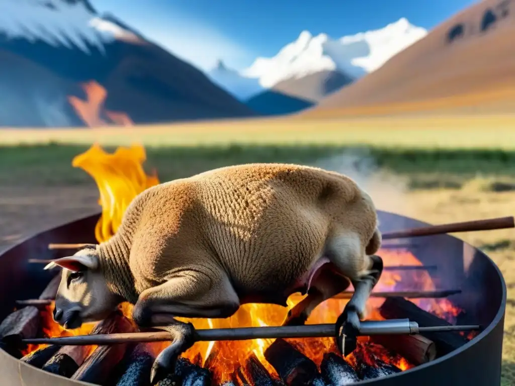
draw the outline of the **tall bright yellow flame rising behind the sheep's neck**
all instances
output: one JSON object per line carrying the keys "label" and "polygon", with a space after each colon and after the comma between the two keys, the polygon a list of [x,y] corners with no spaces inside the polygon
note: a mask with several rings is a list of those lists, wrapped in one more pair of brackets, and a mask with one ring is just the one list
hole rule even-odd
{"label": "tall bright yellow flame rising behind the sheep's neck", "polygon": [[145,173],[145,148],[141,145],[118,147],[112,154],[98,144],[74,157],[73,167],[80,167],[95,180],[102,214],[95,226],[98,242],[110,239],[118,230],[127,206],[143,190],[159,184],[156,172]]}

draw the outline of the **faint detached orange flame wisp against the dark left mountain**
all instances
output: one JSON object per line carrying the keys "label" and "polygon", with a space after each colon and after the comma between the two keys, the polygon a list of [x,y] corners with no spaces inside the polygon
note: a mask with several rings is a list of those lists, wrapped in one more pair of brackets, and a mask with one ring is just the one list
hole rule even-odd
{"label": "faint detached orange flame wisp against the dark left mountain", "polygon": [[107,126],[109,122],[102,119],[105,115],[115,125],[132,126],[130,117],[121,112],[112,112],[104,110],[104,102],[107,98],[107,91],[102,85],[92,80],[81,84],[82,90],[86,94],[86,100],[79,99],[75,96],[69,96],[68,102],[75,109],[79,117],[89,127]]}

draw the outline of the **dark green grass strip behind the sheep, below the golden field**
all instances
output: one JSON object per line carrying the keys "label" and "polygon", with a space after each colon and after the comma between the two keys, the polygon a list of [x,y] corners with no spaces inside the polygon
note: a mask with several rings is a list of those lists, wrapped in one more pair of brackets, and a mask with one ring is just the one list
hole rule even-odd
{"label": "dark green grass strip behind the sheep, below the golden field", "polygon": [[[0,184],[54,185],[90,183],[85,172],[72,167],[75,155],[88,145],[21,145],[0,147]],[[114,147],[105,147],[112,152]],[[216,167],[250,162],[314,164],[325,157],[347,154],[366,167],[409,178],[413,189],[460,188],[488,176],[485,190],[506,186],[515,176],[515,150],[394,149],[374,146],[329,145],[214,145],[147,147],[146,168],[156,169],[161,181],[191,176]],[[359,165],[356,166],[359,168]],[[345,172],[345,170],[339,170]],[[494,178],[494,180],[492,180]],[[492,182],[493,181],[493,182]],[[503,185],[503,186],[504,186]]]}

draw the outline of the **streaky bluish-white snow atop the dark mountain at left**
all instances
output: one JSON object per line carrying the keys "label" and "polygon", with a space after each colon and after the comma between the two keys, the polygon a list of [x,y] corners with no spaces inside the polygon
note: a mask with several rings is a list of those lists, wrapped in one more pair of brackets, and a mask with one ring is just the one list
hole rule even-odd
{"label": "streaky bluish-white snow atop the dark mountain at left", "polygon": [[104,52],[104,44],[116,39],[140,40],[133,32],[98,16],[88,0],[3,0],[2,36],[78,48],[87,54],[92,46]]}

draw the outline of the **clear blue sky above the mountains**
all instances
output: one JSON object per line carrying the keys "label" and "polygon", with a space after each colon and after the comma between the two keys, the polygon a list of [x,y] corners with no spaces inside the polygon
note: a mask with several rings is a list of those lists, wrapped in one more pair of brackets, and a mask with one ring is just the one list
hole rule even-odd
{"label": "clear blue sky above the mountains", "polygon": [[202,69],[241,69],[270,57],[302,30],[333,38],[406,17],[431,29],[474,0],[90,0]]}

